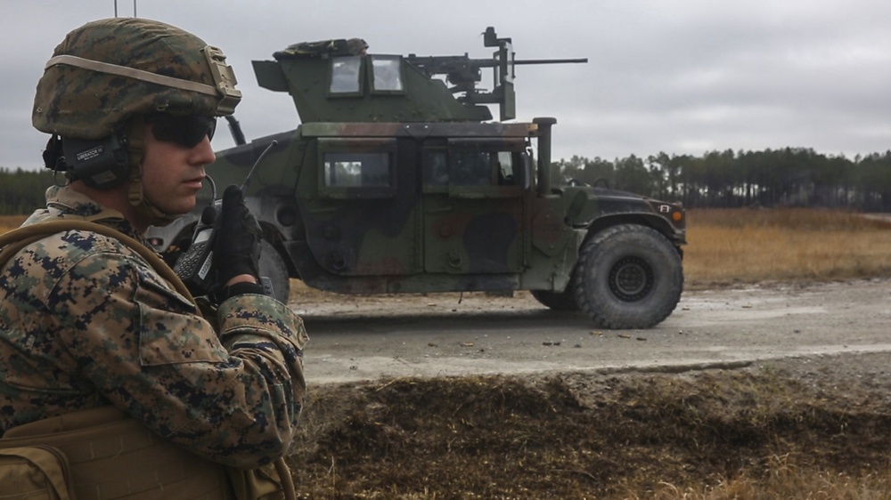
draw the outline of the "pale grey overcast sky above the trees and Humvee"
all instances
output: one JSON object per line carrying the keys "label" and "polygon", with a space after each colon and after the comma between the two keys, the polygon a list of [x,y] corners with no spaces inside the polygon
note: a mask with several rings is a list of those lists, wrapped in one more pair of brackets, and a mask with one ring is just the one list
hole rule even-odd
{"label": "pale grey overcast sky above the trees and Humvee", "polygon": [[[71,29],[114,17],[115,3],[0,4],[0,166],[36,169],[47,136],[30,110],[43,65]],[[259,88],[250,60],[353,36],[372,53],[482,58],[491,49],[480,35],[494,26],[518,59],[588,59],[517,69],[518,119],[558,120],[554,159],[891,149],[887,0],[137,0],[135,9],[224,50],[249,140],[298,125],[290,97]],[[119,0],[118,15],[133,14],[133,0]],[[214,140],[232,145],[225,133]]]}

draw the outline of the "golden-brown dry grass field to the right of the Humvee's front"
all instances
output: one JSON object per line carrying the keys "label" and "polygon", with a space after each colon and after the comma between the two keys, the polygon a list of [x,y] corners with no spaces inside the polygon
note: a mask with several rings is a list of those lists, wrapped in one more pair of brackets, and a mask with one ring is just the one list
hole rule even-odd
{"label": "golden-brown dry grass field to the right of the Humvee's front", "polygon": [[701,288],[891,276],[891,218],[840,211],[691,210],[684,275]]}

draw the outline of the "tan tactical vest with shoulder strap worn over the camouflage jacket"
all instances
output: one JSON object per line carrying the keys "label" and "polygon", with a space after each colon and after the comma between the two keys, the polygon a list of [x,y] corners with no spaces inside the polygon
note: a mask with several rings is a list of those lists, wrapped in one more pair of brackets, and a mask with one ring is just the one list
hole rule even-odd
{"label": "tan tactical vest with shoulder strap worn over the camouflage jacket", "polygon": [[[0,236],[0,270],[25,246],[63,230],[118,239],[194,302],[157,254],[135,238],[87,220],[39,222]],[[0,497],[273,500],[296,495],[283,459],[251,470],[227,467],[176,447],[115,407],[99,407],[6,431],[0,438]]]}

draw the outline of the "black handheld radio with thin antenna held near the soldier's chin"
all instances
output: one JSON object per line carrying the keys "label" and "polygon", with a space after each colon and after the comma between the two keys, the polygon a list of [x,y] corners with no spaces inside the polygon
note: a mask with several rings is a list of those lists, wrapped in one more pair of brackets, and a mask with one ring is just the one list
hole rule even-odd
{"label": "black handheld radio with thin antenna held near the soldier's chin", "polygon": [[[260,153],[257,161],[250,167],[248,176],[241,183],[241,193],[244,194],[248,190],[250,177],[260,164],[260,160],[266,156],[269,149],[272,149],[278,141],[272,141],[269,146]],[[223,200],[217,199],[217,184],[208,176],[210,182],[211,197],[210,204],[204,207],[201,212],[200,219],[195,226],[195,232],[192,236],[192,244],[186,250],[183,257],[176,263],[176,274],[183,280],[189,292],[194,296],[207,295],[217,288],[217,270],[214,268],[214,244],[217,241],[217,232],[221,225],[220,214],[223,208]],[[268,290],[268,279],[261,278],[261,283]]]}

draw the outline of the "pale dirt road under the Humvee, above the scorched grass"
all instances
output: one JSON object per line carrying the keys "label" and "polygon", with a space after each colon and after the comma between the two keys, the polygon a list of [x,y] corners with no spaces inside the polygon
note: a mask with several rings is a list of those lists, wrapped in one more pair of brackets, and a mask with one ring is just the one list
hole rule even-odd
{"label": "pale dirt road under the Humvee, above the scorched grass", "polygon": [[684,292],[650,330],[594,329],[529,294],[295,294],[314,383],[380,376],[665,371],[891,352],[891,280]]}

